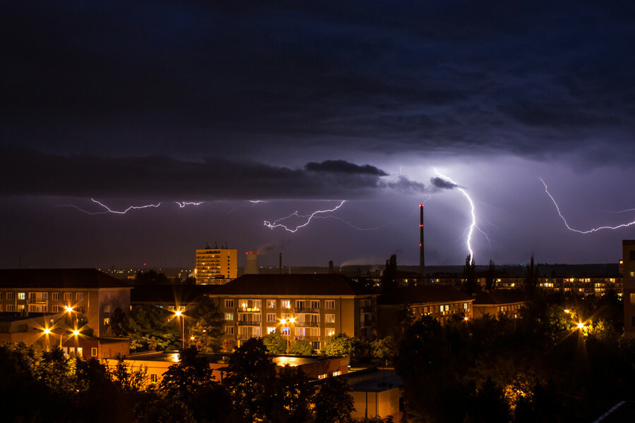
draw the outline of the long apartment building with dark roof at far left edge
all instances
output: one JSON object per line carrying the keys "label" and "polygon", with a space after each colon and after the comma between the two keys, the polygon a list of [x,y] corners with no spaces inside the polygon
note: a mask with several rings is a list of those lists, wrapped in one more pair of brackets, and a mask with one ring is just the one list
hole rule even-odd
{"label": "long apartment building with dark roof at far left edge", "polygon": [[131,288],[97,269],[0,269],[0,312],[83,314],[99,337],[116,307],[130,309]]}

